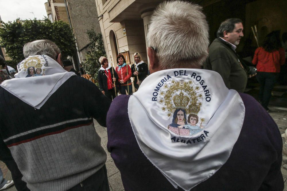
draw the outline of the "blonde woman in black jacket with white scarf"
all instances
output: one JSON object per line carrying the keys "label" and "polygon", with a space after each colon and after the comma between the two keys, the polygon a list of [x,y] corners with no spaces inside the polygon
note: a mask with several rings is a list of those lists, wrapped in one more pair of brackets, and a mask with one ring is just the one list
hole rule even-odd
{"label": "blonde woman in black jacket with white scarf", "polygon": [[[144,63],[144,61],[141,59],[141,55],[138,52],[133,54],[133,60],[134,64],[131,65],[131,77],[134,77],[133,86],[135,87],[135,91],[137,91],[141,82],[148,75],[148,64]],[[139,82],[137,81],[137,78],[139,79]]]}

